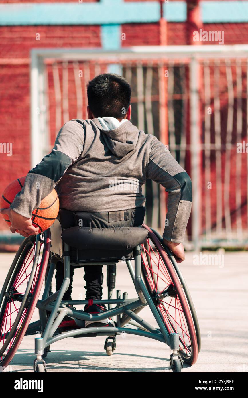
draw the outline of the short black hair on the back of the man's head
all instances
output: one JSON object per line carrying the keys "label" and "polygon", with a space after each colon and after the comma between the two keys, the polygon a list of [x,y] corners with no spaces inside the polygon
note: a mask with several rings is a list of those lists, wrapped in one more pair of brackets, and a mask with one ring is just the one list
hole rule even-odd
{"label": "short black hair on the back of the man's head", "polygon": [[90,110],[95,117],[123,119],[131,102],[131,86],[123,77],[114,73],[100,74],[87,85]]}

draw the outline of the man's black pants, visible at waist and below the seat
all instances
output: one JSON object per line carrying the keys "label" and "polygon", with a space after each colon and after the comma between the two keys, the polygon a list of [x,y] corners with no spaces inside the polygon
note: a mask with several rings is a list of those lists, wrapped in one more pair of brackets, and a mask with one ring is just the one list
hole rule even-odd
{"label": "man's black pants, visible at waist and below the seat", "polygon": [[[137,207],[135,209],[109,211],[101,213],[80,212],[80,225],[91,228],[111,228],[111,227],[130,227],[141,226],[145,217],[145,207]],[[75,213],[71,211],[60,212],[60,220],[62,228],[70,228],[77,225],[78,219]],[[63,300],[70,300],[72,293],[72,279],[74,274],[74,266],[70,267],[70,285],[64,294]],[[86,281],[86,300],[93,298],[100,300],[102,298],[102,265],[85,265],[84,280]],[[59,261],[56,265],[56,290],[58,291],[64,279],[63,264]]]}

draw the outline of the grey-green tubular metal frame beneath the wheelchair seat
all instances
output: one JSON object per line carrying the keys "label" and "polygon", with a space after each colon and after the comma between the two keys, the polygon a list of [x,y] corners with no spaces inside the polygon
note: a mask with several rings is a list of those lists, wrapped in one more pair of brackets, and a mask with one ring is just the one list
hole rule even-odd
{"label": "grey-green tubular metal frame beneath the wheelchair seat", "polygon": [[[64,243],[63,246],[64,246],[64,251],[69,251],[69,246],[66,243]],[[131,278],[133,279],[135,290],[138,294],[138,298],[127,298],[127,296],[125,296],[123,298],[116,298],[116,299],[94,300],[95,304],[118,304],[116,307],[111,308],[102,314],[96,314],[96,315],[88,314],[87,312],[83,312],[80,310],[74,310],[65,306],[65,304],[67,305],[88,304],[88,300],[62,301],[62,297],[64,296],[64,293],[66,293],[70,283],[70,256],[63,257],[64,280],[62,282],[61,289],[51,296],[48,295],[49,288],[51,286],[53,278],[53,273],[55,271],[55,263],[51,263],[49,273],[47,276],[47,281],[45,283],[45,289],[42,300],[38,300],[36,304],[36,307],[39,308],[41,329],[44,330],[44,332],[42,337],[35,338],[35,354],[37,355],[37,359],[34,362],[34,369],[36,368],[37,363],[39,363],[39,361],[43,362],[43,359],[41,359],[41,355],[43,354],[44,349],[47,346],[55,343],[56,341],[59,341],[67,337],[75,337],[80,335],[82,335],[82,337],[86,337],[87,335],[92,336],[92,334],[96,336],[111,336],[111,335],[114,336],[115,334],[120,334],[121,332],[125,332],[127,334],[135,334],[137,336],[148,337],[151,339],[161,341],[162,343],[166,343],[173,349],[173,351],[176,351],[174,352],[174,355],[176,355],[178,358],[181,359],[180,355],[177,353],[177,351],[179,350],[179,336],[176,333],[170,335],[168,334],[162,322],[162,319],[160,318],[156,310],[156,306],[153,303],[152,298],[150,297],[143,280],[141,279],[141,247],[137,246],[133,252],[134,252],[134,261],[135,261],[134,270],[130,260],[127,260],[126,263]],[[109,263],[106,261],[103,263],[103,265],[111,265],[115,263],[116,262]],[[96,264],[96,262],[84,263],[84,265],[89,265],[89,266],[94,264]],[[51,302],[53,302],[54,300],[55,303],[52,305]],[[154,318],[158,323],[159,329],[154,328],[154,326],[150,325],[148,322],[146,322],[137,314],[135,314],[135,310],[141,310],[146,305],[150,307],[152,314],[154,315]],[[44,323],[46,311],[51,311],[47,324]],[[59,313],[59,315],[56,317],[57,313]],[[103,330],[103,328],[101,327],[81,328],[81,329],[62,332],[59,335],[53,336],[58,326],[61,324],[63,318],[66,315],[84,321],[86,320],[100,321],[109,317],[119,316],[121,314],[125,314],[126,317],[124,316],[123,320],[119,319],[119,322],[117,321],[117,324],[119,323],[119,326],[117,327],[109,326],[107,330]],[[124,328],[124,325],[128,323],[128,320],[130,318],[132,318],[135,322],[137,322],[137,324],[141,326],[141,328],[144,328],[146,330]]]}

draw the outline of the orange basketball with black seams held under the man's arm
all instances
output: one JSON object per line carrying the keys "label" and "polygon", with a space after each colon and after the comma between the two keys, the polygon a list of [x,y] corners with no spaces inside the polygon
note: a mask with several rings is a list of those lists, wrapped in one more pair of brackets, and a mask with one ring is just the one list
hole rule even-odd
{"label": "orange basketball with black seams held under the man's arm", "polygon": [[[15,199],[18,192],[21,191],[26,177],[21,177],[12,181],[8,187],[5,188],[4,193],[0,199],[0,208],[7,209]],[[51,226],[57,218],[59,213],[59,198],[55,189],[44,199],[42,199],[38,209],[32,212],[33,226],[39,227],[39,232],[45,231]],[[10,226],[8,215],[2,214],[4,221]]]}

